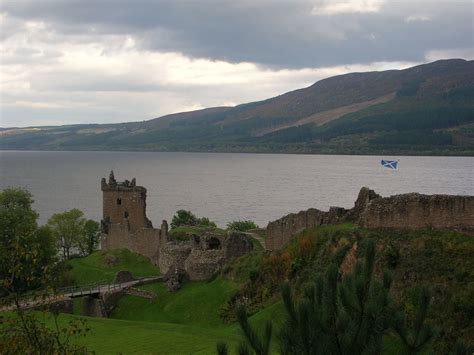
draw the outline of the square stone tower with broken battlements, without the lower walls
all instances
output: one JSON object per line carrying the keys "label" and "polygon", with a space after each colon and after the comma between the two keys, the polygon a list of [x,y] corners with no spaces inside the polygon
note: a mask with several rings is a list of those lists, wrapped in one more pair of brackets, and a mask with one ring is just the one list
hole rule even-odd
{"label": "square stone tower with broken battlements, without the lower walls", "polygon": [[108,182],[102,178],[101,187],[103,222],[106,225],[124,224],[130,233],[141,228],[153,228],[146,216],[146,189],[136,186],[135,178],[131,182],[117,182],[111,171]]}

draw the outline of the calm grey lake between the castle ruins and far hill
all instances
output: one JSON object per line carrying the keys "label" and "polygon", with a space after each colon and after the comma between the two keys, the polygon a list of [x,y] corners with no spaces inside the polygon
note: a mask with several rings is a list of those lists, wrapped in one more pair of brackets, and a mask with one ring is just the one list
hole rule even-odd
{"label": "calm grey lake between the castle ruins and far hill", "polygon": [[[380,159],[400,159],[396,171]],[[26,187],[40,222],[79,208],[102,217],[100,179],[137,179],[148,189],[155,226],[178,209],[220,226],[252,219],[265,226],[310,207],[350,208],[359,189],[383,196],[406,192],[474,194],[473,157],[393,157],[155,152],[0,152],[0,188]]]}

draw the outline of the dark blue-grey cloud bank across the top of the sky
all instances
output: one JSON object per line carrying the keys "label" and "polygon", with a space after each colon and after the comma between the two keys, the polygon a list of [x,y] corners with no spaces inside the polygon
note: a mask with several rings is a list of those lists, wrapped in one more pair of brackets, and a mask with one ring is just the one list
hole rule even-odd
{"label": "dark blue-grey cloud bank across the top of the sky", "polygon": [[[470,1],[386,1],[379,13],[315,16],[314,1],[16,1],[0,11],[70,36],[130,34],[143,49],[277,68],[423,61],[473,46]],[[429,14],[433,21],[406,22]]]}

